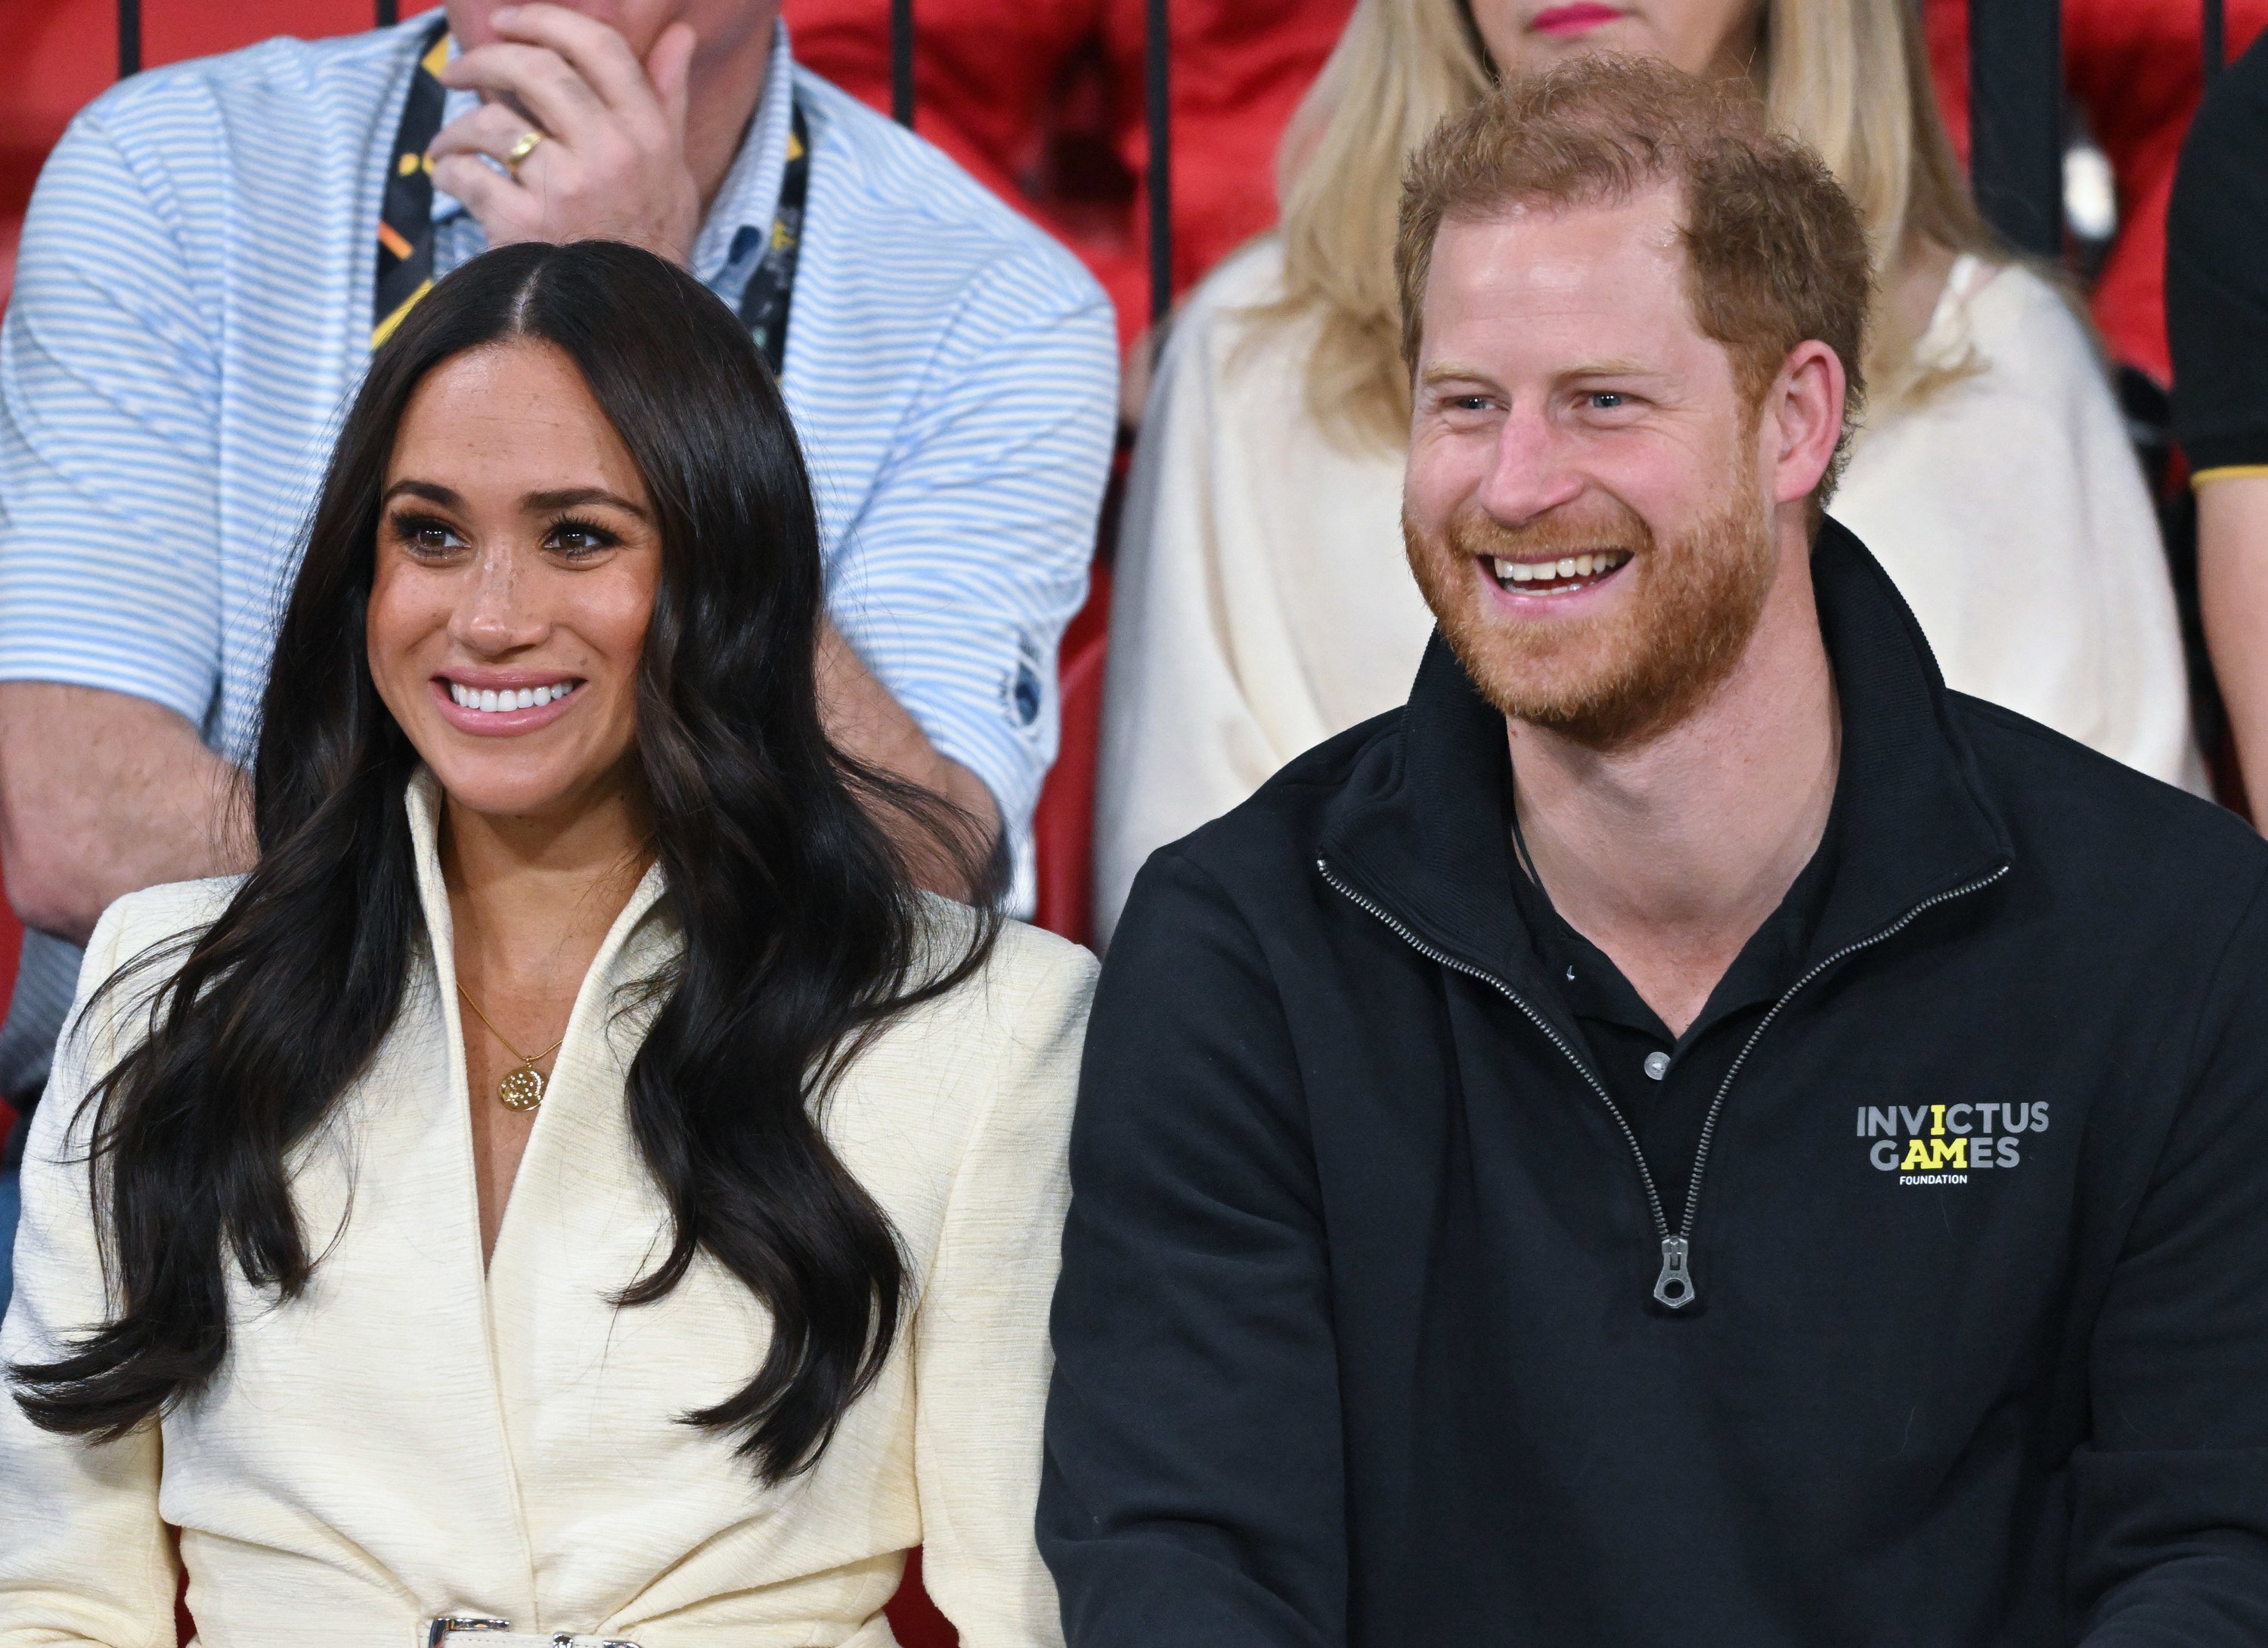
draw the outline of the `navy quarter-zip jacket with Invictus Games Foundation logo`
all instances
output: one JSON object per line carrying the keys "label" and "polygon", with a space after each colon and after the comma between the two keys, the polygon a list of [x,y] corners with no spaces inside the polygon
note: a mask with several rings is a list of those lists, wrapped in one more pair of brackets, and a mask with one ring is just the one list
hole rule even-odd
{"label": "navy quarter-zip jacket with Invictus Games Foundation logo", "polygon": [[1150,859],[1055,1303],[1073,1648],[2268,1643],[2268,846],[1812,569],[1837,825],[1690,1215],[1438,639]]}

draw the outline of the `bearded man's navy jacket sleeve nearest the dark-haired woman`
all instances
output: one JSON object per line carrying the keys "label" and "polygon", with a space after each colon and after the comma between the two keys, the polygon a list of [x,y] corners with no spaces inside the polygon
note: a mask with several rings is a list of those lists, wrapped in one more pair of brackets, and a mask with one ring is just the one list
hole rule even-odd
{"label": "bearded man's navy jacket sleeve nearest the dark-haired woman", "polygon": [[1073,1648],[1347,1639],[1338,1342],[1297,1050],[1227,893],[1168,848],[1095,993],[1039,1546]]}

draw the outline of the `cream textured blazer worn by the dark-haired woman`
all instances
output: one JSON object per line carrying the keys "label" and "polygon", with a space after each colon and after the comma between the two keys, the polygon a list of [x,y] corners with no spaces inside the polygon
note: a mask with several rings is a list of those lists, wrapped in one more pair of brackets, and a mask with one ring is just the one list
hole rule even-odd
{"label": "cream textured blazer worn by the dark-haired woman", "polygon": [[[916,1544],[964,1643],[1059,1643],[1032,1510],[1093,957],[1012,925],[984,975],[900,1018],[837,1088],[826,1136],[889,1213],[919,1301],[816,1469],[764,1489],[730,1437],[678,1424],[762,1360],[748,1292],[703,1256],[660,1303],[608,1303],[667,1247],[624,1113],[644,1020],[610,1011],[678,943],[658,873],[583,979],[483,1274],[429,778],[411,818],[431,945],[370,1074],[295,1165],[315,1281],[274,1306],[231,1269],[225,1369],[122,1442],[54,1437],[0,1401],[0,1648],[172,1643],[181,1566],[213,1648],[411,1648],[435,1614],[642,1648],[885,1648],[880,1609]],[[229,891],[118,900],[82,1002]],[[107,1315],[70,1156],[118,1018],[64,1047],[39,1106],[9,1362]]]}

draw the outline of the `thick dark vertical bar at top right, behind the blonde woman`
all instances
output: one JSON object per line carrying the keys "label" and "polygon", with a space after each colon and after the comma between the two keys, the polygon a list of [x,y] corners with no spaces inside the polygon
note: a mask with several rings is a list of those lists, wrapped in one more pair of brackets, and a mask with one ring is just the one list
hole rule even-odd
{"label": "thick dark vertical bar at top right, behind the blonde woman", "polygon": [[2064,41],[2057,0],[1969,5],[1969,181],[2037,258],[2064,254]]}

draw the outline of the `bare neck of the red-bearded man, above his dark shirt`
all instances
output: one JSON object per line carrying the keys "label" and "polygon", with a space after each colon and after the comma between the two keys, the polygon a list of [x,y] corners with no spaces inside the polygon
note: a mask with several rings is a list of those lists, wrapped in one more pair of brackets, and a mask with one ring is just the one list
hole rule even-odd
{"label": "bare neck of the red-bearded man, above his dark shirt", "polygon": [[1515,805],[1560,918],[1683,1034],[1819,848],[1842,721],[1810,558],[1780,571],[1740,664],[1685,721],[1599,753],[1508,721]]}

